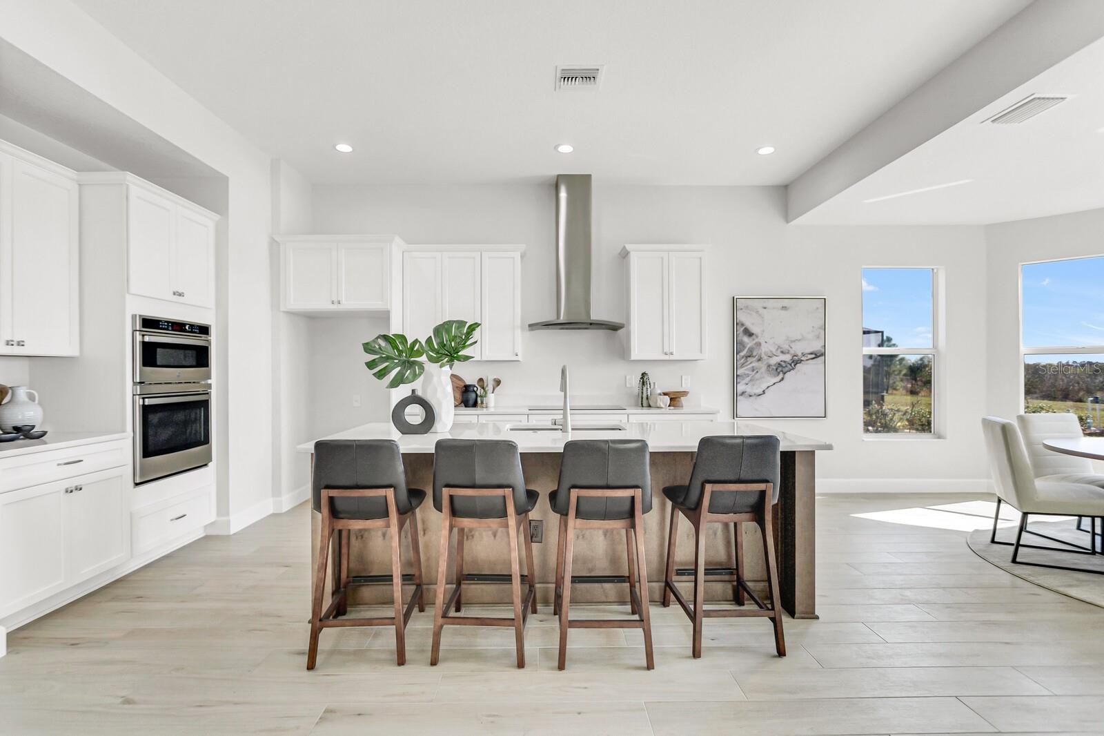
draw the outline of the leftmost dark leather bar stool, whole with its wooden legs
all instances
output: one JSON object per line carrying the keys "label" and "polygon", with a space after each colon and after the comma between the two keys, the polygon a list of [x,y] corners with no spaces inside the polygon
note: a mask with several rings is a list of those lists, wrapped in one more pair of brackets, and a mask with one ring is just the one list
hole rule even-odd
{"label": "leftmost dark leather bar stool, whole with its wooden legs", "polygon": [[[392,440],[322,440],[315,443],[311,467],[315,511],[322,515],[315,566],[315,590],[310,614],[310,646],[307,669],[314,670],[318,658],[318,635],[331,627],[395,628],[395,656],[406,662],[406,623],[417,604],[425,610],[422,591],[422,550],[418,546],[417,507],[425,491],[406,487],[406,470],[399,444]],[[400,536],[410,526],[411,557],[414,572],[403,575]],[[389,529],[391,532],[391,575],[350,576],[349,544],[352,532]],[[333,593],[322,610],[326,567],[330,543],[337,535],[333,551]],[[403,582],[414,583],[414,593],[403,610]],[[394,593],[394,616],[374,619],[346,619],[349,589],[361,585],[390,585]]]}

